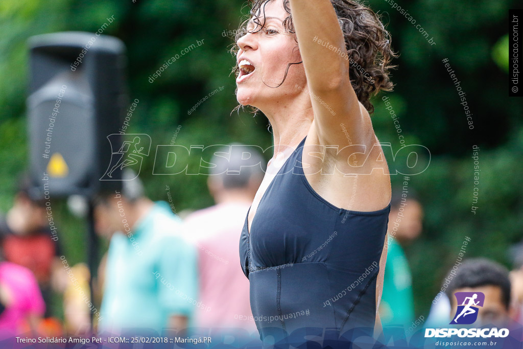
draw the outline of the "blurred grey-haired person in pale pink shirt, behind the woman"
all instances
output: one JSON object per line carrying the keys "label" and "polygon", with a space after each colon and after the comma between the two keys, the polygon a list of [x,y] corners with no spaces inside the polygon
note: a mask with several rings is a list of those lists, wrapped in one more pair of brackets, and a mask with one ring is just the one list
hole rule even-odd
{"label": "blurred grey-haired person in pale pink shirt, behind the woman", "polygon": [[[248,161],[242,154],[250,153]],[[256,330],[249,303],[249,282],[238,265],[238,241],[245,216],[263,179],[264,159],[240,144],[215,154],[207,181],[216,205],[192,213],[185,220],[185,233],[195,240],[199,252],[199,327]],[[261,166],[260,166],[261,164]],[[228,171],[240,168],[240,172]]]}

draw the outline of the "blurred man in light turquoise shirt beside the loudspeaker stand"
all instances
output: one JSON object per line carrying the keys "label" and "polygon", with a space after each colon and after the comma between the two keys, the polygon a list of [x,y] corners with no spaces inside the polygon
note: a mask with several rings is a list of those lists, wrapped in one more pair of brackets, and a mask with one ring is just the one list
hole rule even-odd
{"label": "blurred man in light turquoise shirt beside the loudspeaker stand", "polygon": [[[153,202],[140,179],[122,173],[121,193],[99,195],[97,227],[110,238],[99,330],[184,330],[197,299],[197,254],[166,202]],[[101,212],[101,213],[100,213]],[[104,217],[104,218],[102,218]],[[107,231],[105,231],[107,233]]]}

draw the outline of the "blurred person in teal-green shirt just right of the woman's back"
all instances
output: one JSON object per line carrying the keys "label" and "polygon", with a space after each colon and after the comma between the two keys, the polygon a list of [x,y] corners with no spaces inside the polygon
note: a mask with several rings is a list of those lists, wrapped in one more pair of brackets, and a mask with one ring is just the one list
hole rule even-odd
{"label": "blurred person in teal-green shirt just right of the woman's back", "polygon": [[383,278],[380,317],[383,325],[403,325],[414,321],[414,296],[411,269],[402,245],[421,234],[423,207],[411,191],[407,195],[394,192],[388,226],[388,250]]}

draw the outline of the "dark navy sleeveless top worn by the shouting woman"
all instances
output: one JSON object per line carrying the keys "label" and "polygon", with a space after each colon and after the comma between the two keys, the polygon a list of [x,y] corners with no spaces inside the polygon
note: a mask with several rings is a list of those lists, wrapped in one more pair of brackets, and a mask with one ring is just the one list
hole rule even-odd
{"label": "dark navy sleeveless top worn by the shouting woman", "polygon": [[261,340],[293,332],[303,338],[307,327],[340,334],[373,329],[376,319],[376,278],[390,205],[359,212],[329,204],[305,178],[304,142],[268,186],[250,234],[245,218],[240,239]]}

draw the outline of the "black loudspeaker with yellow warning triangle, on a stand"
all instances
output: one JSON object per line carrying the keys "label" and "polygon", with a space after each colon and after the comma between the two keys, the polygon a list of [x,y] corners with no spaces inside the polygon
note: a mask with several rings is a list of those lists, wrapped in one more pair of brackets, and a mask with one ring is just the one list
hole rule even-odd
{"label": "black loudspeaker with yellow warning triangle, on a stand", "polygon": [[119,133],[128,103],[123,42],[98,32],[58,32],[31,37],[29,49],[33,193],[92,197],[120,188],[120,173],[99,179],[111,161],[107,136]]}

